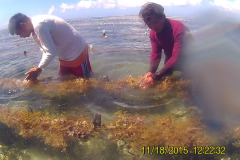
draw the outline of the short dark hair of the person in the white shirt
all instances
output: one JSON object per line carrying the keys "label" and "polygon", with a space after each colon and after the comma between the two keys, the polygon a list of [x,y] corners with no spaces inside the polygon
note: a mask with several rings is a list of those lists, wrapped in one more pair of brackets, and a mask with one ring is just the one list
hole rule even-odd
{"label": "short dark hair of the person in the white shirt", "polygon": [[13,15],[8,23],[8,30],[11,33],[11,35],[14,35],[14,32],[16,29],[20,29],[20,23],[26,22],[29,19],[28,16],[22,13],[17,13]]}

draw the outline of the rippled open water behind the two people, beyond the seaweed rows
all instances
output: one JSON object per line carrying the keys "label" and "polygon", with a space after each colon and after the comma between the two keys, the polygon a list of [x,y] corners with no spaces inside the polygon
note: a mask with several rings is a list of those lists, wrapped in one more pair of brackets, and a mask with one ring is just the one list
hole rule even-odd
{"label": "rippled open water behind the two people, beyond the seaweed rows", "polygon": [[[192,19],[176,19],[182,20],[192,30],[197,28]],[[72,19],[68,22],[93,46],[90,61],[97,75],[116,79],[143,75],[148,70],[151,52],[149,29],[138,16]],[[107,38],[104,38],[103,30]],[[21,39],[9,35],[4,29],[1,30],[0,41],[1,77],[23,78],[29,68],[38,65],[41,51],[31,37]],[[57,57],[46,70],[41,76],[57,76]]]}

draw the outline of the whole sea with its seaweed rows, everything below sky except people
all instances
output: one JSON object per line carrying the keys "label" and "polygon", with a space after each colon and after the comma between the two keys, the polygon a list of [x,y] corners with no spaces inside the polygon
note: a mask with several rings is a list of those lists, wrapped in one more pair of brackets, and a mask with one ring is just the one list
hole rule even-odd
{"label": "whole sea with its seaweed rows, everything below sky except people", "polygon": [[151,43],[138,16],[67,20],[89,45],[88,79],[60,78],[56,57],[38,82],[23,81],[42,53],[0,30],[0,159],[240,159],[239,25],[169,18],[196,37],[187,76],[146,90]]}

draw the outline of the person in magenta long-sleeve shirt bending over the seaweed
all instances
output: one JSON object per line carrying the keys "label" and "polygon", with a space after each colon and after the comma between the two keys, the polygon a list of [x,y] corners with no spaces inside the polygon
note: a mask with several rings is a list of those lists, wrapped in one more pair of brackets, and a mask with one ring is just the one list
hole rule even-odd
{"label": "person in magenta long-sleeve shirt bending over the seaweed", "polygon": [[[166,18],[164,8],[156,3],[146,3],[139,13],[150,30],[152,52],[150,68],[141,79],[141,88],[146,89],[154,85],[155,81],[169,75],[178,69],[184,47],[184,39],[189,29],[182,22]],[[164,66],[158,72],[162,51],[165,54]]]}

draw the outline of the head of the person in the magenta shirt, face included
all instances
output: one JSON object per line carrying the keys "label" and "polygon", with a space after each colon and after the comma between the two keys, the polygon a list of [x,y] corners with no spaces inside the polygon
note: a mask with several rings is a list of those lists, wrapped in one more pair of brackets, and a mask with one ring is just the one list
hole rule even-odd
{"label": "head of the person in the magenta shirt, face included", "polygon": [[146,3],[142,6],[139,16],[150,29],[156,32],[162,31],[166,16],[164,8],[160,4]]}

